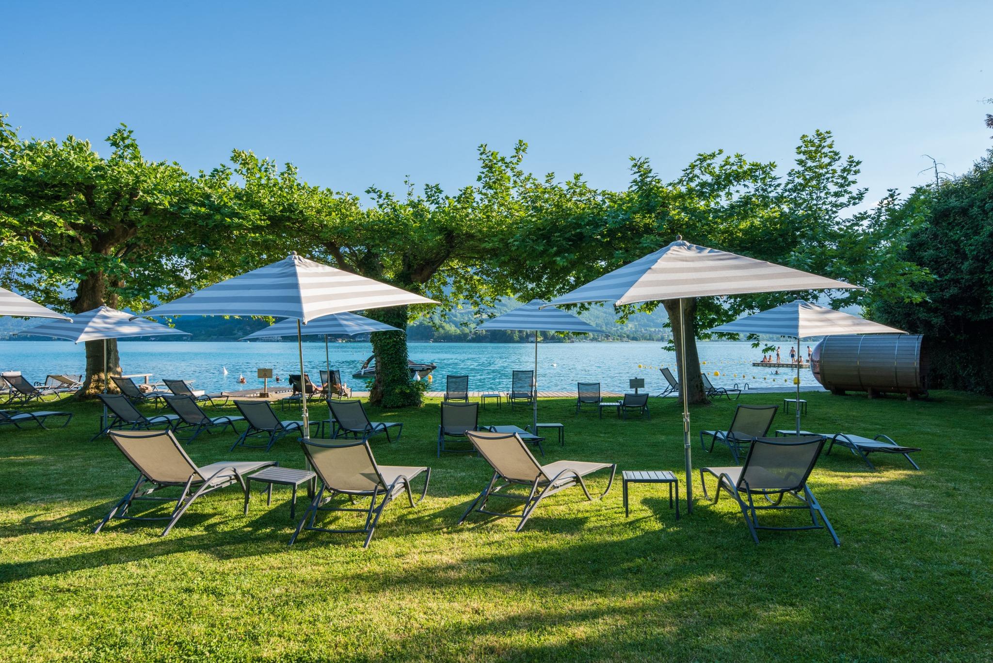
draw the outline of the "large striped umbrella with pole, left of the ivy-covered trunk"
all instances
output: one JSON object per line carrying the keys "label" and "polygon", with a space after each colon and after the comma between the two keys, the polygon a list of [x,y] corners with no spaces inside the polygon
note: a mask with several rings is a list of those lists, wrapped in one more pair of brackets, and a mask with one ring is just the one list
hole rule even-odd
{"label": "large striped umbrella with pole, left of the ivy-covered trunk", "polygon": [[[437,304],[398,287],[351,271],[308,260],[296,253],[145,311],[152,315],[267,315],[296,322],[301,380],[304,374],[302,326],[311,320],[348,311],[403,304]],[[304,434],[310,435],[307,399]]]}

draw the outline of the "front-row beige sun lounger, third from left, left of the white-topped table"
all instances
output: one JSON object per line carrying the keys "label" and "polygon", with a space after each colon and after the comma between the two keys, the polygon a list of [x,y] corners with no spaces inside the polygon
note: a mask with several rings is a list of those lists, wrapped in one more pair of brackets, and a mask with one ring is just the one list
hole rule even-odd
{"label": "front-row beige sun lounger, third from left, left of the white-topped table", "polygon": [[[539,465],[516,433],[470,431],[467,435],[476,450],[494,468],[494,474],[487,487],[462,514],[462,518],[459,519],[460,525],[475,511],[498,518],[519,518],[520,523],[517,525],[516,531],[520,532],[524,528],[524,524],[527,523],[527,519],[534,513],[538,503],[549,495],[554,495],[573,486],[579,486],[586,494],[586,499],[592,500],[593,497],[586,487],[584,477],[593,472],[602,469],[611,470],[607,489],[600,497],[607,495],[614,484],[614,475],[618,468],[616,463],[556,460],[547,465]],[[506,490],[513,486],[521,486],[527,490],[527,493],[513,493]],[[519,515],[488,511],[487,502],[493,497],[522,502],[523,510]]]}

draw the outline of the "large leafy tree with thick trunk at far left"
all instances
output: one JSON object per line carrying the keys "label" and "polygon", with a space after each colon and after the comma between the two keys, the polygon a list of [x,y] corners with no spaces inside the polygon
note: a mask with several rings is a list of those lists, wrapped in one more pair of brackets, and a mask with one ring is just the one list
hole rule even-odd
{"label": "large leafy tree with thick trunk at far left", "polygon": [[[57,309],[101,304],[143,308],[212,279],[223,223],[212,192],[223,182],[191,178],[176,163],[150,161],[126,126],[100,156],[86,140],[24,138],[0,116],[0,281]],[[120,374],[117,345],[107,366]],[[82,394],[103,384],[102,344],[86,343]]]}

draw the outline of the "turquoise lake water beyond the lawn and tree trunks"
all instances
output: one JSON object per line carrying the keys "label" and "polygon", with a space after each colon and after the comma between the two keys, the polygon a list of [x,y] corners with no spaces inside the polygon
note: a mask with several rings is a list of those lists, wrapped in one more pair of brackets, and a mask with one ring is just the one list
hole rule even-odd
{"label": "turquoise lake water beyond the lawn and tree trunks", "polygon": [[[781,344],[788,361],[788,344]],[[298,372],[297,344],[281,343],[207,343],[124,341],[120,348],[121,368],[125,375],[151,373],[152,380],[182,378],[193,380],[197,389],[235,391],[261,387],[255,377],[258,368],[272,368],[286,384],[290,373]],[[701,366],[719,386],[735,383],[752,388],[782,386],[791,389],[788,369],[752,367],[762,358],[751,343],[711,341],[699,344]],[[806,354],[806,345],[801,346]],[[364,381],[352,378],[362,362],[372,354],[368,343],[331,343],[331,366],[342,371],[344,381],[364,391]],[[411,343],[413,361],[433,362],[434,389],[445,389],[445,375],[469,375],[472,391],[509,388],[510,371],[530,369],[534,365],[534,344],[528,343]],[[305,342],[304,361],[314,378],[325,367],[324,343]],[[639,366],[640,365],[640,368]],[[675,373],[674,353],[662,350],[658,342],[580,342],[541,343],[538,346],[538,389],[540,391],[576,391],[577,382],[599,382],[604,391],[628,391],[630,378],[644,378],[646,389],[656,394],[665,386],[658,369],[668,366]],[[223,369],[227,369],[224,375]],[[0,370],[20,371],[31,381],[44,380],[50,373],[83,373],[84,350],[81,345],[65,341],[0,341]],[[720,376],[713,376],[714,372]],[[247,385],[238,384],[243,375]],[[270,383],[271,384],[271,383]],[[817,386],[809,369],[801,369],[800,384]]]}

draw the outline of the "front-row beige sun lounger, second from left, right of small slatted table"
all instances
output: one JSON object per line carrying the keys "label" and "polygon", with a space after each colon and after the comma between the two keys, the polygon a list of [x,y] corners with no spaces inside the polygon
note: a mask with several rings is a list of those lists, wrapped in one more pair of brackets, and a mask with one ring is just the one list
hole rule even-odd
{"label": "front-row beige sun lounger, second from left, right of small slatted table", "polygon": [[[334,534],[364,534],[365,542],[362,548],[368,548],[375,526],[383,509],[401,493],[407,493],[410,506],[420,504],[428,493],[431,482],[430,467],[412,467],[398,465],[380,465],[372,455],[372,449],[367,440],[359,440],[345,444],[335,444],[330,439],[312,439],[301,442],[307,461],[314,468],[321,488],[314,495],[310,506],[300,519],[289,545],[292,546],[303,530],[314,532],[331,532]],[[420,499],[414,501],[410,482],[421,473],[425,474],[424,488]],[[344,495],[349,503],[355,498],[368,498],[366,509],[353,506],[328,506],[330,501]],[[376,503],[378,501],[378,504]],[[365,515],[365,523],[361,528],[331,529],[315,524],[319,512],[344,512]]]}

